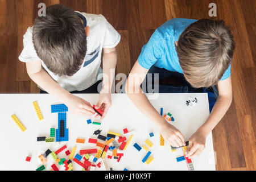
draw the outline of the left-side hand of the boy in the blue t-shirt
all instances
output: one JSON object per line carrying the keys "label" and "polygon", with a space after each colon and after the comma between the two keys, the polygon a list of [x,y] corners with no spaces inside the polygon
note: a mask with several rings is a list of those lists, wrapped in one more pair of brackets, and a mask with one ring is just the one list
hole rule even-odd
{"label": "left-side hand of the boy in the blue t-shirt", "polygon": [[[166,122],[166,121],[165,121]],[[166,122],[160,129],[163,138],[167,140],[173,147],[185,146],[185,139],[176,127]]]}

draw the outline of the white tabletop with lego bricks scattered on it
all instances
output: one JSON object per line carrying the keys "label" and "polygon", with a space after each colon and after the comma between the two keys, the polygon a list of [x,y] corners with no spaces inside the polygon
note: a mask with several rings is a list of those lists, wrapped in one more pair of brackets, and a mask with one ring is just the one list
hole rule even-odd
{"label": "white tabletop with lego bricks scattered on it", "polygon": [[[98,94],[76,94],[90,104],[96,104]],[[159,110],[163,107],[163,113],[170,112],[175,122],[172,125],[177,127],[183,133],[185,140],[205,122],[209,115],[208,98],[205,93],[193,94],[158,94],[158,99],[150,100],[152,105]],[[190,107],[185,105],[188,96],[195,96],[198,99],[196,106]],[[43,114],[43,121],[39,121],[33,101],[38,101],[38,105]],[[64,144],[67,144],[68,150],[71,151],[73,146],[77,147],[76,153],[82,149],[96,148],[95,144],[88,143],[88,138],[97,138],[93,132],[101,129],[102,135],[113,131],[123,134],[123,129],[134,130],[134,137],[131,143],[124,151],[124,156],[118,163],[115,159],[108,159],[108,164],[114,170],[188,170],[185,161],[176,162],[176,158],[183,155],[182,148],[172,152],[170,145],[165,142],[164,146],[159,144],[159,131],[129,100],[126,94],[112,94],[112,107],[108,115],[102,121],[101,125],[88,125],[86,117],[67,112],[67,128],[69,129],[68,142],[37,142],[36,137],[49,137],[50,128],[57,129],[57,113],[51,113],[52,104],[61,104],[49,94],[0,94],[0,142],[1,142],[1,165],[0,170],[35,170],[42,164],[38,156],[43,154],[48,148],[56,151]],[[22,132],[11,119],[15,114],[26,131]],[[153,132],[154,137],[149,133]],[[76,138],[85,138],[85,144],[76,143]],[[150,148],[151,156],[154,158],[152,163],[147,165],[142,163],[146,151],[142,148],[137,151],[133,144],[137,142],[140,146],[145,144],[145,140],[150,139],[154,144]],[[64,150],[65,151],[65,150]],[[65,152],[61,152],[59,158],[68,157]],[[26,156],[31,156],[31,162],[26,162]],[[75,155],[74,155],[75,156]],[[198,158],[192,159],[195,170],[215,170],[214,152],[212,134],[207,137],[205,150]],[[46,169],[51,169],[54,163],[51,155],[47,157]],[[55,163],[56,164],[56,163]],[[59,168],[59,164],[57,165]],[[73,162],[74,170],[81,170],[78,164]]]}

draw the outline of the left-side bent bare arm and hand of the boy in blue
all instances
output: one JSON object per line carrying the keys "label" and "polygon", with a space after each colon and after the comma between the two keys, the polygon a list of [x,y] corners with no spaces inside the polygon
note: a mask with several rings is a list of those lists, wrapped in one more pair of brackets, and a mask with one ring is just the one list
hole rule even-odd
{"label": "left-side bent bare arm and hand of the boy in blue", "polygon": [[[175,147],[184,146],[185,140],[184,136],[177,130],[174,126],[170,125],[155,108],[151,105],[150,101],[148,101],[146,95],[143,93],[141,89],[141,84],[144,78],[146,77],[148,69],[143,68],[138,60],[131,69],[129,73],[129,77],[127,78],[125,90],[127,96],[133,102],[135,106],[146,115],[152,122],[160,130],[160,133],[163,137]],[[133,75],[139,74],[141,75],[141,80],[134,82]],[[134,76],[135,77],[135,76]],[[137,92],[138,91],[138,92]]]}

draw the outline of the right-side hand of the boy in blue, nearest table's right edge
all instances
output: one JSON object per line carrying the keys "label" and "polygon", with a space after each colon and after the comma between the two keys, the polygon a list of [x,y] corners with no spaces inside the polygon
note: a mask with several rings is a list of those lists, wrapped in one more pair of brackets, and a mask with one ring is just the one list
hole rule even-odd
{"label": "right-side hand of the boy in blue, nearest table's right edge", "polygon": [[191,138],[189,138],[188,148],[186,150],[186,157],[189,159],[199,156],[205,148],[206,135],[201,131],[196,131]]}

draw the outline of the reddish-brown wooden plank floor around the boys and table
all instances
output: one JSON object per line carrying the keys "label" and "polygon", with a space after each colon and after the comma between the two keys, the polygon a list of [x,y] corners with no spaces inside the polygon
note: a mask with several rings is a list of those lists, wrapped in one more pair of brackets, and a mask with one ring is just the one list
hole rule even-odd
{"label": "reddish-brown wooden plank floor around the boys and table", "polygon": [[[0,93],[38,93],[18,60],[23,34],[36,18],[38,4],[61,3],[74,10],[102,14],[121,34],[118,73],[129,73],[152,32],[172,18],[209,18],[216,3],[218,19],[233,31],[233,102],[213,130],[218,170],[256,170],[254,0],[0,0]],[[1,102],[1,101],[0,101]]]}

